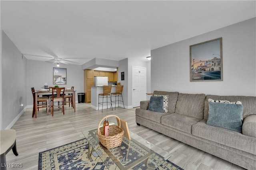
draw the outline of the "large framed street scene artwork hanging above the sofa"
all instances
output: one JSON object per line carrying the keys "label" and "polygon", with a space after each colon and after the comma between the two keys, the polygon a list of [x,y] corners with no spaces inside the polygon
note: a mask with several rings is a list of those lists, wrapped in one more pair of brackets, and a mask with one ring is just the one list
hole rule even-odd
{"label": "large framed street scene artwork hanging above the sofa", "polygon": [[223,81],[222,37],[190,45],[190,82]]}

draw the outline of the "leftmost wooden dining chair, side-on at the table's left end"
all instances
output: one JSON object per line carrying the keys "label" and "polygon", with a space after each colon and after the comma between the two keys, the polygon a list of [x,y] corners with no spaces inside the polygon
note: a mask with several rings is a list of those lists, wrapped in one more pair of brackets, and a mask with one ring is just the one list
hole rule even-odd
{"label": "leftmost wooden dining chair, side-on at the table's left end", "polygon": [[[39,111],[39,108],[46,108],[46,111],[47,111],[47,115],[48,115],[48,108],[49,108],[49,103],[48,103],[48,100],[49,98],[48,97],[38,97],[35,95],[35,89],[34,87],[31,88],[31,92],[32,92],[32,95],[33,95],[33,111],[32,111],[32,117],[34,117],[35,115],[35,112],[37,109]],[[36,104],[36,97],[37,97],[37,104]]]}

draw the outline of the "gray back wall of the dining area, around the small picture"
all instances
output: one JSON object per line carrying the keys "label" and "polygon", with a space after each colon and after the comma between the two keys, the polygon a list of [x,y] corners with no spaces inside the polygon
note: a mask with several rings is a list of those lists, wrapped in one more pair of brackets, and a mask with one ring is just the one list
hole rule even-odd
{"label": "gray back wall of the dining area, around the small picture", "polygon": [[[44,61],[27,61],[27,104],[28,107],[32,107],[33,98],[31,93],[31,87],[35,90],[40,90],[44,83],[48,86],[55,86],[53,84],[53,67],[57,67],[56,63],[48,63]],[[84,93],[84,70],[82,70],[81,65],[76,64],[62,64],[60,63],[60,68],[67,68],[67,84],[58,84],[60,87],[71,88],[74,86],[76,93]],[[76,94],[76,102],[78,97]]]}

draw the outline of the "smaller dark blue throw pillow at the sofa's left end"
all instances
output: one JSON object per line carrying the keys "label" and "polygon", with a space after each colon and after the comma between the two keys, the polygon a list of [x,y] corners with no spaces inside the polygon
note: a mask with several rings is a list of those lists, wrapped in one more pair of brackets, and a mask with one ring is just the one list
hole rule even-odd
{"label": "smaller dark blue throw pillow at the sofa's left end", "polygon": [[151,96],[148,110],[164,112],[164,96]]}

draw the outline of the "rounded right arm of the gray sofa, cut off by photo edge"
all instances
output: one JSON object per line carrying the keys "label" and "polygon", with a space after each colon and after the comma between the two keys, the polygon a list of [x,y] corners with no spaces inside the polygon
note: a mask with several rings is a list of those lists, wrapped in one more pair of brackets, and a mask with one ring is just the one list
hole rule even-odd
{"label": "rounded right arm of the gray sofa, cut off by photo edge", "polygon": [[242,133],[243,135],[256,138],[256,115],[249,115],[244,118]]}

